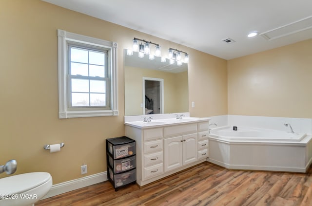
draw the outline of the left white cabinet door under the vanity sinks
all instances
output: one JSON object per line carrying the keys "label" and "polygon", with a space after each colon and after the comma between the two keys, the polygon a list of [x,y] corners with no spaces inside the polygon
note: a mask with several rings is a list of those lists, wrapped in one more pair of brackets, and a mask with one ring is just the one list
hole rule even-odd
{"label": "left white cabinet door under the vanity sinks", "polygon": [[165,172],[182,166],[182,142],[182,136],[164,139]]}

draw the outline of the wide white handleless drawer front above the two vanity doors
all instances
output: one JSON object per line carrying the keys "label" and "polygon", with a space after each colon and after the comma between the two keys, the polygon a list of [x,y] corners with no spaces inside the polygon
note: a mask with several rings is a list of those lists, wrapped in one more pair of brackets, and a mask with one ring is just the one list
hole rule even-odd
{"label": "wide white handleless drawer front above the two vanity doors", "polygon": [[197,132],[197,124],[183,124],[164,128],[164,136],[172,137]]}

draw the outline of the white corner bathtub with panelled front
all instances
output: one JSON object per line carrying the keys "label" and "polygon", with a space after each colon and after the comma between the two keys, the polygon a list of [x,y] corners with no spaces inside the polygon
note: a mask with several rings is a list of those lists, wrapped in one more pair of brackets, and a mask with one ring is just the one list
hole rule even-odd
{"label": "white corner bathtub with panelled front", "polygon": [[312,135],[238,127],[210,130],[209,162],[228,169],[306,172],[312,162]]}

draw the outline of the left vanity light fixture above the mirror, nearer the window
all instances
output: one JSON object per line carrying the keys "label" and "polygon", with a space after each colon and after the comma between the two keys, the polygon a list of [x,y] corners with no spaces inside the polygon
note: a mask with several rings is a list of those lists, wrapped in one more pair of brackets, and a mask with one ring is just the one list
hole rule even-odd
{"label": "left vanity light fixture above the mirror, nearer the window", "polygon": [[[134,37],[133,42],[133,52],[138,52],[138,56],[143,58],[144,55],[149,55],[149,59],[154,59],[155,56],[161,56],[161,47],[159,44],[153,43],[152,41],[146,41],[145,39],[139,39]],[[151,53],[151,44],[155,45],[154,54]],[[131,53],[127,51],[127,55]]]}

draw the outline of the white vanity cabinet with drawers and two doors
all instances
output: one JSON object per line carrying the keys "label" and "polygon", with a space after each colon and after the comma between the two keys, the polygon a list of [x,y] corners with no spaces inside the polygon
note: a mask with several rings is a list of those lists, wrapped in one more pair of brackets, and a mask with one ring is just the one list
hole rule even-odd
{"label": "white vanity cabinet with drawers and two doors", "polygon": [[137,144],[137,184],[143,186],[206,161],[208,125],[208,119],[147,127],[127,123],[126,136]]}

